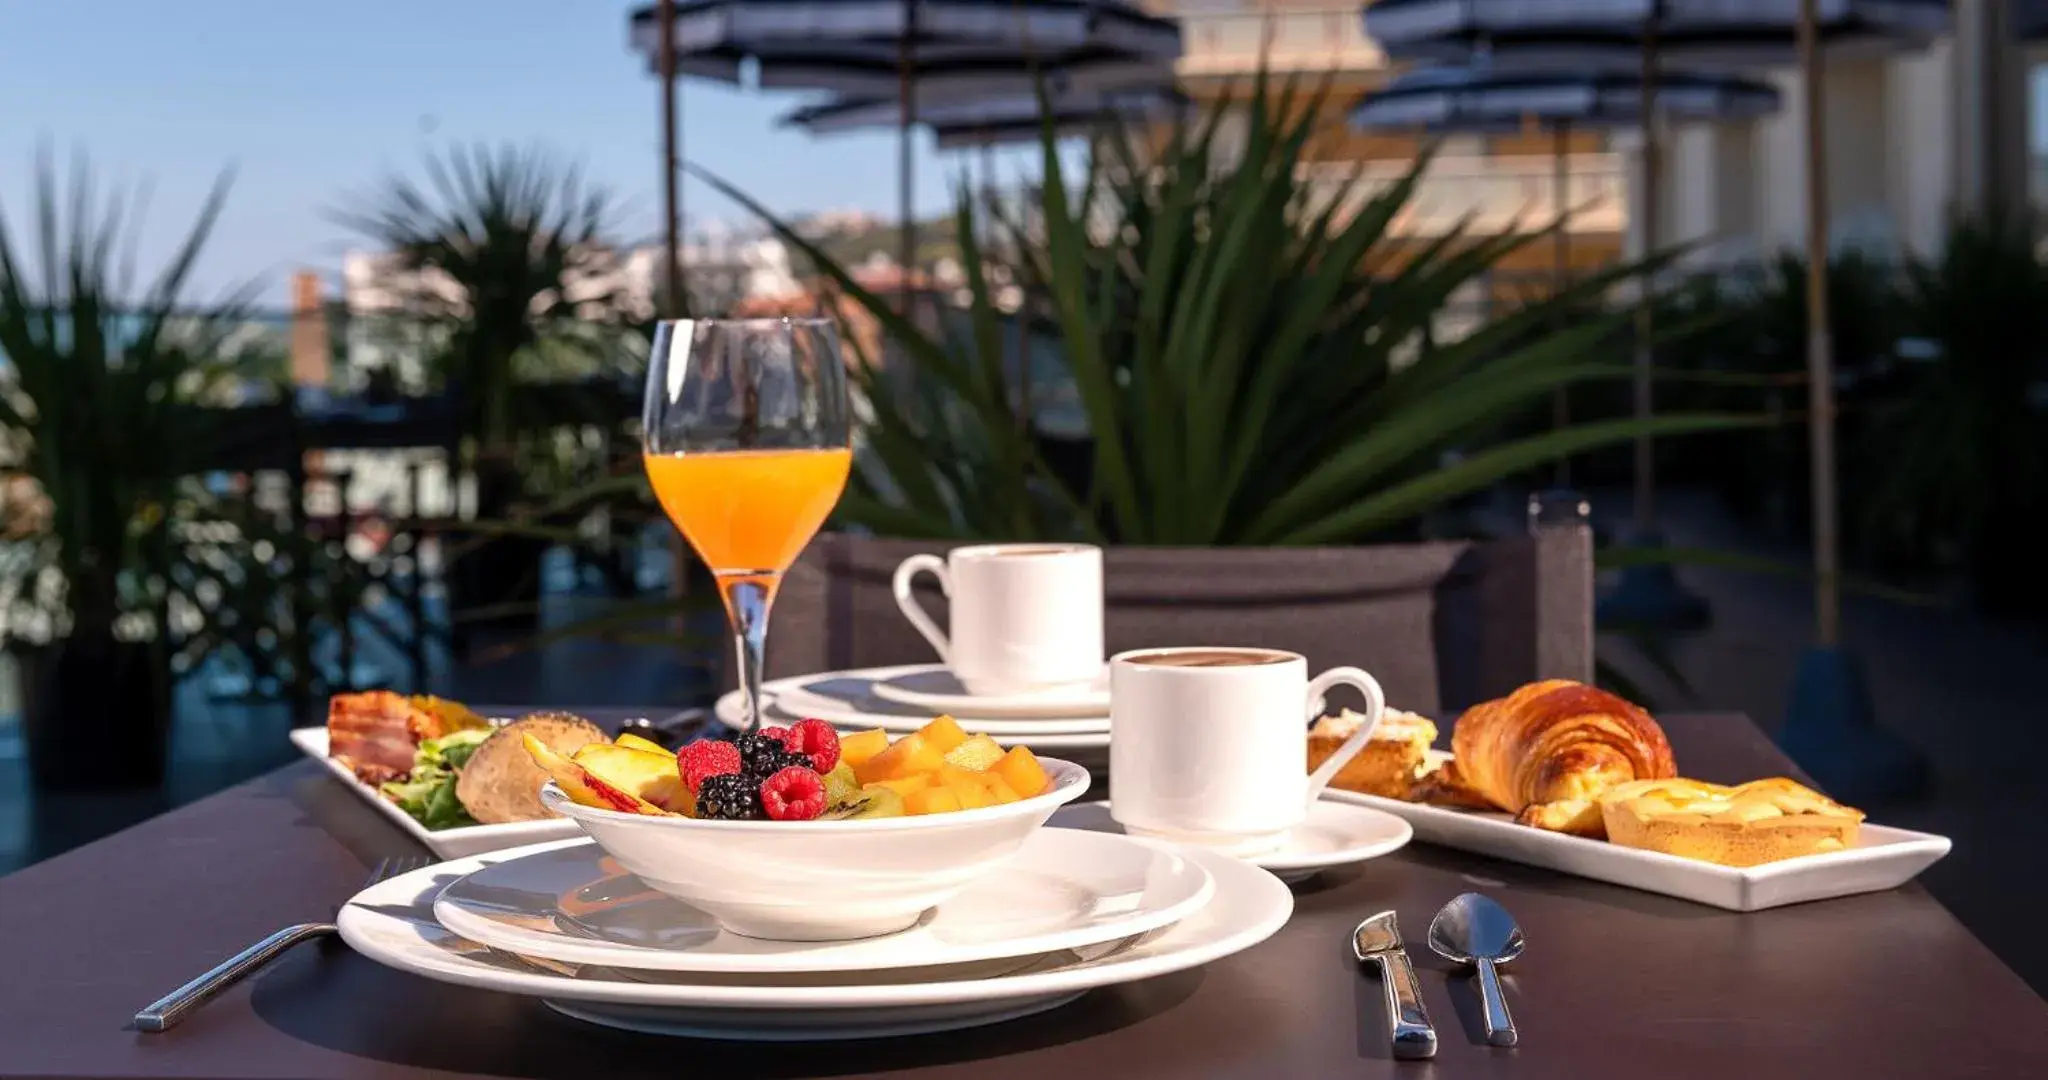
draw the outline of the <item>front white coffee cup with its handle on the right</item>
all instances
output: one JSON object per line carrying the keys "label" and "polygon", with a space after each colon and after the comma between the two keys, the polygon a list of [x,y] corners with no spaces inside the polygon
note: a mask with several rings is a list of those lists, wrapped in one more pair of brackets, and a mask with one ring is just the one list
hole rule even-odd
{"label": "front white coffee cup with its handle on the right", "polygon": [[[1358,725],[1315,775],[1309,719],[1337,684],[1366,695]],[[1309,678],[1298,654],[1139,650],[1110,658],[1110,816],[1124,832],[1260,855],[1286,842],[1386,711],[1358,668]]]}

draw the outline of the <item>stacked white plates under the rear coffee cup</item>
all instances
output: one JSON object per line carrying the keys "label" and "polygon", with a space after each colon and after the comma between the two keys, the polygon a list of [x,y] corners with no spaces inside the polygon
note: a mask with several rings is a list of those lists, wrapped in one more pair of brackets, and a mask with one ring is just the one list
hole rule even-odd
{"label": "stacked white plates under the rear coffee cup", "polygon": [[[911,664],[772,678],[762,684],[762,697],[768,699],[768,723],[817,717],[842,732],[905,734],[946,713],[969,732],[1032,752],[1085,758],[1110,746],[1108,678],[1085,691],[977,697],[944,664]],[[727,728],[745,728],[739,691],[721,697],[713,715]]]}

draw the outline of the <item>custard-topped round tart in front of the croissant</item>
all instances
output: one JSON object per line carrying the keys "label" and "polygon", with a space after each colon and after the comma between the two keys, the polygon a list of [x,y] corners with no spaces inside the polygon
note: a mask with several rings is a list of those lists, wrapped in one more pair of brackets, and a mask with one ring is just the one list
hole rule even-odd
{"label": "custard-topped round tart in front of the croissant", "polygon": [[1755,867],[1855,846],[1864,812],[1788,779],[1722,787],[1634,781],[1599,795],[1608,840],[1722,867]]}

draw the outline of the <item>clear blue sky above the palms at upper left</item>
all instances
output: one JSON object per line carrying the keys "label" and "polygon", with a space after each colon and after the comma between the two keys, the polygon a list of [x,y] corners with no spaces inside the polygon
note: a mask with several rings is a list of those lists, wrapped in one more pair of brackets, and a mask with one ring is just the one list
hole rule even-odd
{"label": "clear blue sky above the palms at upper left", "polygon": [[[201,266],[209,291],[350,246],[324,211],[451,139],[541,141],[659,219],[657,84],[627,51],[631,0],[0,0],[0,209],[20,227],[37,146],[147,180],[143,258],[162,254],[236,166]],[[776,211],[895,213],[895,135],[813,139],[774,119],[801,98],[684,84],[684,154]],[[918,156],[922,213],[950,205],[956,156]],[[1022,152],[999,168],[1016,174]],[[1036,170],[1032,170],[1036,172]],[[743,219],[698,182],[692,221]]]}

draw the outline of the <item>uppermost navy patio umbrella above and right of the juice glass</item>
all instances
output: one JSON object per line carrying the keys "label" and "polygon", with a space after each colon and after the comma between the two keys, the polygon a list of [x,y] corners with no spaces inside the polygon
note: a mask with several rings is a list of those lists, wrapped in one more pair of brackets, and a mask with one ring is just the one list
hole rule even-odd
{"label": "uppermost navy patio umbrella above and right of the juice glass", "polygon": [[[633,41],[659,49],[657,12]],[[690,0],[674,16],[676,70],[764,88],[897,102],[905,301],[915,262],[911,121],[918,96],[969,100],[1171,78],[1180,25],[1126,0]]]}

